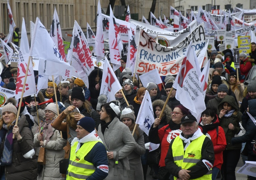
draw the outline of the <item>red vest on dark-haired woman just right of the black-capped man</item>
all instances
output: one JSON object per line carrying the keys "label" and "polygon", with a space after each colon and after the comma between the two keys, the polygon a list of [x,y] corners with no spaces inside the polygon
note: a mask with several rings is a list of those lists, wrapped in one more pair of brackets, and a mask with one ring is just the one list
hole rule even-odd
{"label": "red vest on dark-haired woman just right of the black-capped man", "polygon": [[[216,120],[213,123],[219,123],[218,116],[216,115]],[[202,131],[202,118],[200,119],[200,125],[199,128]],[[226,137],[225,137],[225,132],[221,126],[218,126],[218,139],[217,139],[217,130],[216,128],[212,130],[208,130],[207,133],[205,134],[208,136],[213,143],[213,149],[214,149],[214,164],[213,167],[217,167],[221,169],[221,166],[223,164],[223,151],[226,148],[227,142],[226,142]]]}

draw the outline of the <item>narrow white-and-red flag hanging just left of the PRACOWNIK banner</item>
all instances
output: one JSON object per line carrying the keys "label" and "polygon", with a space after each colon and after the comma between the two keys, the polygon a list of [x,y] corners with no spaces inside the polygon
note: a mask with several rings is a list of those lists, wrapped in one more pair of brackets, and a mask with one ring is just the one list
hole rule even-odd
{"label": "narrow white-and-red flag hanging just left of the PRACOWNIK banner", "polygon": [[128,55],[127,55],[127,62],[126,67],[131,69],[131,72],[133,74],[134,67],[135,67],[135,60],[137,55],[137,46],[135,43],[135,35],[133,33],[133,30],[129,31],[129,42],[128,42]]}

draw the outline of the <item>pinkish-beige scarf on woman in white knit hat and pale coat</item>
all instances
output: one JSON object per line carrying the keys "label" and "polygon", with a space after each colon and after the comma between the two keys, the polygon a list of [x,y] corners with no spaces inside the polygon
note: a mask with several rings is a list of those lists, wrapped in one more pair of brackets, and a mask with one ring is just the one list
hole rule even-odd
{"label": "pinkish-beige scarf on woman in white knit hat and pale coat", "polygon": [[52,122],[54,119],[41,121],[40,126],[40,134],[43,134],[43,139],[46,140],[45,145],[49,142],[50,138],[53,136],[53,128]]}

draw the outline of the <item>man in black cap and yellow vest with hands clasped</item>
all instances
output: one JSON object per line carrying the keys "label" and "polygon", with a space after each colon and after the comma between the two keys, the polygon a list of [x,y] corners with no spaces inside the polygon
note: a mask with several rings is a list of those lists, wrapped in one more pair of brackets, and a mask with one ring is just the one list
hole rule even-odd
{"label": "man in black cap and yellow vest with hands clasped", "polygon": [[181,130],[180,136],[172,139],[165,158],[168,172],[177,180],[211,180],[214,163],[212,141],[198,128],[193,115],[182,117]]}

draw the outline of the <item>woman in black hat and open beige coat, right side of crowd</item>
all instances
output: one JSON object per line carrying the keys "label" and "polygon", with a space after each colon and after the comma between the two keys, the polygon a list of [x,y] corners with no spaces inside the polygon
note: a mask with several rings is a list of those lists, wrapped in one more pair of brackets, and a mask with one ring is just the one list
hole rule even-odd
{"label": "woman in black hat and open beige coat, right side of crowd", "polygon": [[243,101],[243,91],[244,91],[244,84],[237,81],[237,72],[231,72],[229,74],[229,87],[235,94],[238,106],[240,107],[241,104],[239,102]]}

